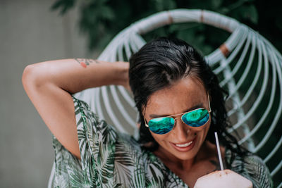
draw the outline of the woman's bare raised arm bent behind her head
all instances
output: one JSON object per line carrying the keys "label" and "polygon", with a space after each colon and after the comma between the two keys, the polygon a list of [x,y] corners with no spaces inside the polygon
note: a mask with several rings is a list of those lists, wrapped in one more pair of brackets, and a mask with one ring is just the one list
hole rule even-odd
{"label": "woman's bare raised arm bent behind her head", "polygon": [[128,63],[62,59],[27,65],[23,87],[49,130],[80,158],[71,94],[109,84],[128,85]]}

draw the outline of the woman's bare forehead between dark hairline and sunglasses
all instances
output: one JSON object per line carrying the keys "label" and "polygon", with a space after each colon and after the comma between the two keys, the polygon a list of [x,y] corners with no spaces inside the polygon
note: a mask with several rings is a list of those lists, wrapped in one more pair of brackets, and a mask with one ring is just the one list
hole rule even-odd
{"label": "woman's bare forehead between dark hairline and sunglasses", "polygon": [[145,115],[183,113],[188,108],[205,104],[206,99],[207,92],[202,82],[195,77],[185,77],[171,87],[154,92],[144,109]]}

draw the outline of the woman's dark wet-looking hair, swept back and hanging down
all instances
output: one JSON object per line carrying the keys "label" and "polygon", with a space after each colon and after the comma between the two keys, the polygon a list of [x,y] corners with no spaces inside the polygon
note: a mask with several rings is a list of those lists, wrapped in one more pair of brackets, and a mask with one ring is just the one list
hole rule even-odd
{"label": "woman's dark wet-looking hair, swept back and hanging down", "polygon": [[[223,97],[223,93],[226,92],[219,86],[216,75],[204,58],[192,46],[175,38],[154,39],[130,58],[129,83],[140,113],[140,144],[149,151],[154,151],[159,146],[148,127],[145,127],[142,114],[149,96],[188,75],[197,77],[204,84],[211,99],[212,122],[206,139],[215,143],[214,132],[217,132],[221,144],[230,149],[231,153],[238,153],[243,158],[247,151],[241,148],[235,137],[227,132],[230,126],[227,122]],[[231,161],[226,163],[230,165]]]}

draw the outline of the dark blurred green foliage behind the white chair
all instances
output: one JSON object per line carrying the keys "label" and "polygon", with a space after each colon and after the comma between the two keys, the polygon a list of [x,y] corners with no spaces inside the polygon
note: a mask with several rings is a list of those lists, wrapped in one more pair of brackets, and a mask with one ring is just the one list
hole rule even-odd
{"label": "dark blurred green foliage behind the white chair", "polygon": [[[51,10],[59,11],[61,15],[67,13],[71,8],[77,6],[80,12],[79,28],[88,39],[89,51],[102,51],[111,39],[121,32],[125,27],[137,20],[146,18],[159,11],[168,11],[175,8],[196,8],[215,11],[231,18],[235,18],[240,23],[248,25],[253,30],[257,30],[266,37],[278,51],[282,51],[282,14],[279,1],[269,0],[57,0],[51,6]],[[206,55],[214,51],[230,36],[230,33],[221,29],[199,24],[185,23],[173,24],[161,27],[149,32],[143,37],[148,41],[154,37],[171,36],[184,39],[192,46],[202,51]],[[245,84],[243,89],[247,89],[250,84]],[[257,94],[259,93],[257,89]],[[279,99],[278,93],[276,99]],[[279,101],[278,101],[279,102]],[[263,109],[267,104],[262,104]],[[261,112],[257,113],[257,118],[261,117]],[[273,112],[276,113],[275,110]],[[271,124],[271,119],[267,120],[264,130],[260,134],[265,134]],[[278,125],[281,125],[278,123]],[[277,126],[274,132],[276,137],[271,137],[269,143],[278,142],[281,137],[282,128]],[[259,135],[257,136],[260,137]],[[271,147],[269,147],[271,149]],[[265,146],[265,156],[269,153],[268,146]],[[281,152],[278,152],[278,159],[281,159]],[[279,161],[278,161],[279,162]],[[277,164],[269,163],[269,167]],[[273,168],[272,168],[273,169]],[[281,171],[281,170],[280,170]],[[281,182],[279,173],[274,177],[276,185]]]}

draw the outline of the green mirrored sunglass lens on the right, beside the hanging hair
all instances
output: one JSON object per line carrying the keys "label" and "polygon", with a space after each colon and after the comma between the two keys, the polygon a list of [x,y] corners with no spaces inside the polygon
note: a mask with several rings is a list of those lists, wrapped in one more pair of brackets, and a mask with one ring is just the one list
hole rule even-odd
{"label": "green mirrored sunglass lens on the right, beside the hanging hair", "polygon": [[200,127],[207,123],[209,120],[209,111],[204,108],[199,108],[195,111],[190,111],[182,115],[181,119],[191,127]]}

